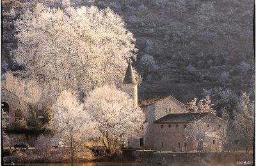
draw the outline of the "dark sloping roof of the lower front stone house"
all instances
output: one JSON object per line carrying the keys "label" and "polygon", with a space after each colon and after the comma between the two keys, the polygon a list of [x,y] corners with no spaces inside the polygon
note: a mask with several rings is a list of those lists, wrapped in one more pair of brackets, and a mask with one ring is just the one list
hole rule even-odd
{"label": "dark sloping roof of the lower front stone house", "polygon": [[156,120],[154,123],[189,123],[202,119],[209,114],[211,114],[211,112],[167,114]]}

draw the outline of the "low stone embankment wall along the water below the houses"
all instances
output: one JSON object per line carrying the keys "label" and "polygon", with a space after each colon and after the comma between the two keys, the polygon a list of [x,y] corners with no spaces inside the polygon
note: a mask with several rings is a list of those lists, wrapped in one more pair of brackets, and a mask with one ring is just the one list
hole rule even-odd
{"label": "low stone embankment wall along the water below the houses", "polygon": [[[237,162],[253,165],[253,153],[166,153],[157,151],[136,151],[136,162],[163,165],[237,165]],[[241,164],[241,163],[240,163]]]}

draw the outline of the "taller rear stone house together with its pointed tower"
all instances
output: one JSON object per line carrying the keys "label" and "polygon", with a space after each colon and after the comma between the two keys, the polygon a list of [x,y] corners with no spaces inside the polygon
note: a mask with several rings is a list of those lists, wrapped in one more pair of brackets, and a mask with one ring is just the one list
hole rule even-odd
{"label": "taller rear stone house together with its pointed tower", "polygon": [[154,121],[160,117],[165,116],[169,112],[186,112],[186,105],[179,102],[172,96],[160,96],[149,98],[138,103],[138,84],[134,77],[131,62],[127,67],[124,82],[122,84],[122,91],[129,94],[134,101],[134,107],[141,107],[145,113],[147,131],[141,133],[140,137],[129,139],[129,147],[153,149],[154,148]]}

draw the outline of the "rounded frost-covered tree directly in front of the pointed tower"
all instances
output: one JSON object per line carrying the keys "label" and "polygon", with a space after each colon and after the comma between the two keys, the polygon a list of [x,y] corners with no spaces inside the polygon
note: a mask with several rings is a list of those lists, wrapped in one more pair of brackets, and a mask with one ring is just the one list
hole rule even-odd
{"label": "rounded frost-covered tree directly in front of the pointed tower", "polygon": [[115,86],[94,89],[85,107],[96,121],[95,128],[106,147],[106,155],[120,153],[120,148],[140,132],[145,121],[141,109],[134,108],[131,98]]}

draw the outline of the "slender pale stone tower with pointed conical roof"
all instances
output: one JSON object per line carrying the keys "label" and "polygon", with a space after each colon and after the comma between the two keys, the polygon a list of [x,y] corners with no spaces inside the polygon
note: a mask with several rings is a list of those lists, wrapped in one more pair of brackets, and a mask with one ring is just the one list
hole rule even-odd
{"label": "slender pale stone tower with pointed conical roof", "polygon": [[130,98],[133,100],[134,107],[138,107],[138,84],[134,77],[131,61],[129,61],[125,73],[124,82],[122,84],[122,91],[129,94]]}

